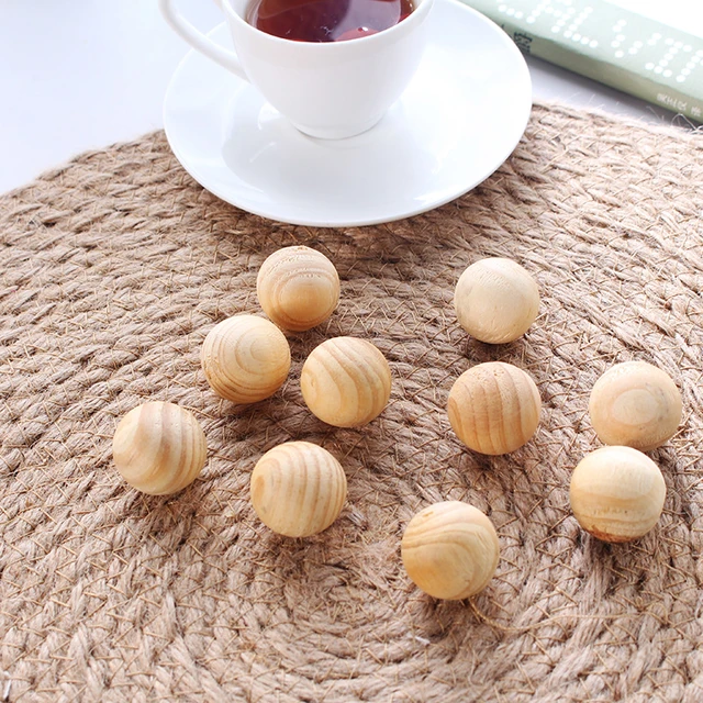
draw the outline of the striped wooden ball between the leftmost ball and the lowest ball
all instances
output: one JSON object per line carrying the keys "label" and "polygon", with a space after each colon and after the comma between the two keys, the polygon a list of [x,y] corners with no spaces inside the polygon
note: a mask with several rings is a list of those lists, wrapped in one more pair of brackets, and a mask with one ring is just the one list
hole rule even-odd
{"label": "striped wooden ball between the leftmost ball and the lowest ball", "polygon": [[347,479],[339,462],[310,442],[267,451],[252,473],[252,504],[261,522],[287,537],[326,529],[342,512]]}

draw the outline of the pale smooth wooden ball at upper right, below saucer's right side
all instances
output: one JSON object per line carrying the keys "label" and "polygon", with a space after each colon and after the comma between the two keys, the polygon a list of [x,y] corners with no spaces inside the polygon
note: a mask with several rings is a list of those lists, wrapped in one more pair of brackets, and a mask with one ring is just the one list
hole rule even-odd
{"label": "pale smooth wooden ball at upper right, below saucer's right side", "polygon": [[471,336],[504,344],[525,334],[535,321],[539,289],[520,264],[500,257],[481,259],[461,274],[454,308]]}

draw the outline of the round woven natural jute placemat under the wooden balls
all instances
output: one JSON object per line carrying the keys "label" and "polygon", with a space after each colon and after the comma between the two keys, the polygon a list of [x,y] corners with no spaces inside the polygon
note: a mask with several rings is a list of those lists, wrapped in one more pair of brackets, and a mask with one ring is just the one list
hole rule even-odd
{"label": "round woven natural jute placemat under the wooden balls", "polygon": [[[426,215],[311,230],[239,212],[181,169],[163,134],[85,155],[0,199],[0,698],[11,701],[703,700],[703,224],[700,135],[536,108],[510,160]],[[337,312],[290,335],[293,368],[268,401],[219,400],[205,334],[257,312],[278,247],[306,244],[342,278]],[[532,271],[540,314],[488,346],[459,328],[471,261]],[[364,429],[305,409],[305,355],[358,335],[393,371]],[[599,446],[595,379],[645,359],[681,388],[679,434],[651,453],[668,495],[631,545],[584,534],[572,468]],[[465,449],[446,415],[470,365],[526,369],[544,402],[523,449]],[[150,498],[111,459],[137,403],[190,409],[209,442],[201,478]],[[288,439],[343,464],[341,518],[309,539],[256,518],[248,480]],[[405,576],[400,538],[431,502],[486,511],[501,561],[470,601]],[[9,687],[9,688],[8,688]]]}

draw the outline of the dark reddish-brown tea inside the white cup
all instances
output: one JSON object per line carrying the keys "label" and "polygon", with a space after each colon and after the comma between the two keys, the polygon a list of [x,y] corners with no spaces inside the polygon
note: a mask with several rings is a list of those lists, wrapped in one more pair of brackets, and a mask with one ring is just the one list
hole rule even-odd
{"label": "dark reddish-brown tea inside the white cup", "polygon": [[246,21],[286,40],[342,42],[387,30],[413,9],[413,0],[253,0]]}

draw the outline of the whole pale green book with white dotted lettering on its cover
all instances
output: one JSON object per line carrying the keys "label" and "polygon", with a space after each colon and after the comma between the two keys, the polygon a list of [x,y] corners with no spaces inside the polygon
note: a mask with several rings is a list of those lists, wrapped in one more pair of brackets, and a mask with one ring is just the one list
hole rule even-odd
{"label": "whole pale green book with white dotted lettering on its cover", "polygon": [[703,37],[605,0],[462,0],[532,54],[703,123]]}

